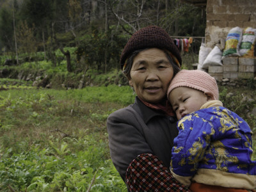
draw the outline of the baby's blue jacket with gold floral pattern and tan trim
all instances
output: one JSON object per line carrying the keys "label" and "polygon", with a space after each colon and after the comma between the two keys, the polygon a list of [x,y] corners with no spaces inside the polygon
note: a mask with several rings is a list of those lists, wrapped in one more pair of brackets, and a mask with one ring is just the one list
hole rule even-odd
{"label": "baby's blue jacket with gold floral pattern and tan trim", "polygon": [[252,131],[236,113],[214,100],[184,116],[177,126],[170,170],[182,184],[256,188]]}

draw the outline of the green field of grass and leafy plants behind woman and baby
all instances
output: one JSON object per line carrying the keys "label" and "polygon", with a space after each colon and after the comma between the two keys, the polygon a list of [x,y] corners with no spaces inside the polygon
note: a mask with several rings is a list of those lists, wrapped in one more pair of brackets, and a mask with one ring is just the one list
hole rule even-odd
{"label": "green field of grass and leafy plants behind woman and baby", "polygon": [[[129,86],[20,86],[0,91],[0,191],[127,191],[109,157],[106,118],[134,101]],[[256,151],[255,95],[220,86],[224,106],[252,128]]]}

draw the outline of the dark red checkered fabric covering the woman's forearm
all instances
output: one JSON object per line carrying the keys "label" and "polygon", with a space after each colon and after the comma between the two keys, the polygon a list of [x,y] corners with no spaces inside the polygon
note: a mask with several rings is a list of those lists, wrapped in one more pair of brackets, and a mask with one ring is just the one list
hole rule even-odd
{"label": "dark red checkered fabric covering the woman's forearm", "polygon": [[127,168],[129,191],[190,191],[172,177],[158,157],[141,154]]}

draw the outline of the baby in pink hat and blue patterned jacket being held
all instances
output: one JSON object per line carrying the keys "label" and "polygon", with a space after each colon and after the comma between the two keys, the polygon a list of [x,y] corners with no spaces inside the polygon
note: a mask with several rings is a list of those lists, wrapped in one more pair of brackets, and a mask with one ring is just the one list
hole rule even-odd
{"label": "baby in pink hat and blue patterned jacket being held", "polygon": [[170,170],[191,191],[256,188],[252,131],[218,100],[216,80],[201,70],[181,70],[167,97],[177,115]]}

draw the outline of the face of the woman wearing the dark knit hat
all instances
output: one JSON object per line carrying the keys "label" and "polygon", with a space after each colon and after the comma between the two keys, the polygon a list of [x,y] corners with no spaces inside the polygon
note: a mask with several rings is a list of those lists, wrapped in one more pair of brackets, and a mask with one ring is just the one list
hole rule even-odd
{"label": "face of the woman wearing the dark knit hat", "polygon": [[172,77],[173,68],[164,51],[151,48],[134,57],[129,84],[140,99],[158,103],[166,98]]}

